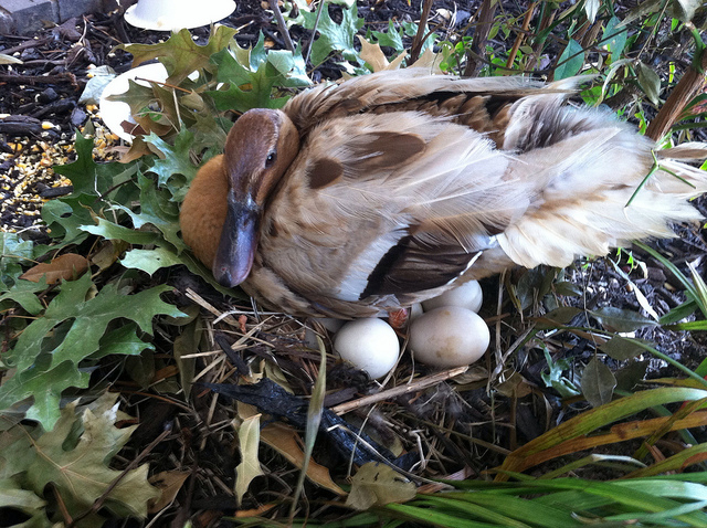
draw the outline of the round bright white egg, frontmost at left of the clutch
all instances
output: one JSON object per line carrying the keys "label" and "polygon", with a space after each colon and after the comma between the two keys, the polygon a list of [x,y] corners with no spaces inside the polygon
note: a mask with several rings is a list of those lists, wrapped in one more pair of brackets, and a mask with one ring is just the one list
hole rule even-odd
{"label": "round bright white egg, frontmost at left of the clutch", "polygon": [[334,349],[341,359],[377,380],[395,366],[400,345],[388,323],[370,318],[346,323],[334,338]]}

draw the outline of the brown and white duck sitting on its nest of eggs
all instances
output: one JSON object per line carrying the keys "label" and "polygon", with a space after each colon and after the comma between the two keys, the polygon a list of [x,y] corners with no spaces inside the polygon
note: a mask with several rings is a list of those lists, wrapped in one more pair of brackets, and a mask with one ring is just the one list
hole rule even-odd
{"label": "brown and white duck sitting on its nest of eggs", "polygon": [[191,182],[182,237],[265,307],[350,319],[699,219],[707,173],[685,159],[705,147],[656,151],[572,104],[578,83],[409,67],[247,110]]}

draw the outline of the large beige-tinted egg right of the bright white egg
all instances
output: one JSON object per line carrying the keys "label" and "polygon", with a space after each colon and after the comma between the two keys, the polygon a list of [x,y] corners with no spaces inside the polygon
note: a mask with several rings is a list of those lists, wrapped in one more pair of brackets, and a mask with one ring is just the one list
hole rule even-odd
{"label": "large beige-tinted egg right of the bright white egg", "polygon": [[477,361],[488,348],[484,319],[467,308],[444,306],[425,311],[410,325],[410,349],[416,361],[440,368]]}

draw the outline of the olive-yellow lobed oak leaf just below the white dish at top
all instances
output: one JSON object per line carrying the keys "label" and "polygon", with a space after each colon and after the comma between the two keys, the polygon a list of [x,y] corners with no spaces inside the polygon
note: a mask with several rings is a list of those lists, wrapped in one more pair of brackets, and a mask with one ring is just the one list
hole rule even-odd
{"label": "olive-yellow lobed oak leaf just below the white dish at top", "polygon": [[167,68],[168,84],[178,85],[192,72],[210,64],[211,55],[225,49],[238,31],[226,25],[215,28],[205,45],[194,42],[191,33],[182,29],[159,44],[122,44],[118,47],[133,54],[133,65],[159,59]]}

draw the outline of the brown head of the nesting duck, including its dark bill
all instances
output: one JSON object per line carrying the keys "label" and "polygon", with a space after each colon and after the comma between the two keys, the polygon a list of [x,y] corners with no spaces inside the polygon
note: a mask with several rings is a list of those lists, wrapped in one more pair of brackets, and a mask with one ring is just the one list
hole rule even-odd
{"label": "brown head of the nesting duck, including its dark bill", "polygon": [[249,110],[231,128],[223,154],[226,215],[212,265],[223,286],[238,286],[247,277],[267,197],[298,150],[297,128],[279,110]]}

